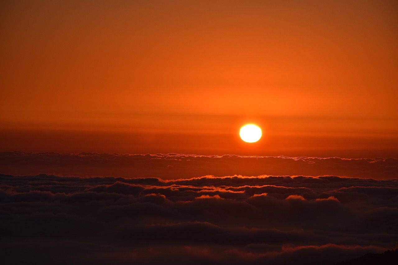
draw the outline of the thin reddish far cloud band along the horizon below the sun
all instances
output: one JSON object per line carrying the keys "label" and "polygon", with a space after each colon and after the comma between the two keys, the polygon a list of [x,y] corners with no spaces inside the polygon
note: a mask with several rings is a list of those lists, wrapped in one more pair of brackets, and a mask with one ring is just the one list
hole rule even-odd
{"label": "thin reddish far cloud band along the horizon below the sun", "polygon": [[117,176],[124,178],[192,178],[205,175],[322,176],[398,178],[398,159],[338,157],[242,157],[179,154],[0,152],[0,173],[12,175]]}

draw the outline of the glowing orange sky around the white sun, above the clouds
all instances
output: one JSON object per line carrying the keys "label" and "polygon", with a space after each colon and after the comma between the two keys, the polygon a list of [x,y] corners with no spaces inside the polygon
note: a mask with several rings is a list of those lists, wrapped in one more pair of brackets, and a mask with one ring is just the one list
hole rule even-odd
{"label": "glowing orange sky around the white sun, above the clouds", "polygon": [[396,1],[0,10],[2,151],[397,157]]}

